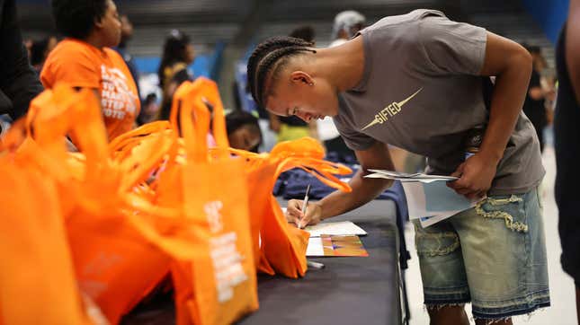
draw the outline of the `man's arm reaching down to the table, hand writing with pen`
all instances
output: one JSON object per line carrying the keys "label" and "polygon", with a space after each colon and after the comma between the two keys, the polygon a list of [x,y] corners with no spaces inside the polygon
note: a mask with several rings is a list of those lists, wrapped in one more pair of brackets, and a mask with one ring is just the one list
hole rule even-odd
{"label": "man's arm reaching down to the table, hand writing with pen", "polygon": [[326,198],[318,202],[308,204],[306,215],[302,215],[301,200],[290,200],[288,203],[287,216],[295,224],[307,225],[317,224],[320,221],[335,216],[342,215],[354,208],[364,205],[373,198],[379,196],[382,191],[387,189],[392,180],[384,179],[365,179],[364,176],[368,169],[384,169],[392,171],[393,163],[388,154],[388,145],[376,142],[364,151],[355,152],[361,169],[356,172],[349,182],[352,192],[335,191]]}

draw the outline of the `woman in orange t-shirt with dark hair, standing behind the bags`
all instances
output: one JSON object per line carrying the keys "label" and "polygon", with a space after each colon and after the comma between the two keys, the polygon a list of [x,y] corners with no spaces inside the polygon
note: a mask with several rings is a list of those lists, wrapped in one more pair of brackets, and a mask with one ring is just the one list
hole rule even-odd
{"label": "woman in orange t-shirt with dark hair, standing behind the bags", "polygon": [[109,140],[129,131],[138,116],[135,81],[111,47],[120,42],[120,20],[112,0],[52,0],[57,29],[67,39],[50,52],[40,81],[92,88],[101,97]]}

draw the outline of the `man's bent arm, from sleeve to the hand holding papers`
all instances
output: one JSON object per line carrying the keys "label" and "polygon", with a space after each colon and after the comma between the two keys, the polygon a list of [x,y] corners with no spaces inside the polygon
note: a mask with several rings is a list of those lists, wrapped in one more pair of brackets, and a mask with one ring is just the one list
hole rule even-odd
{"label": "man's bent arm, from sleeve to the hand holding papers", "polygon": [[491,187],[497,163],[522,110],[531,75],[531,55],[519,44],[487,32],[486,58],[480,75],[495,75],[486,134],[479,152],[462,163],[450,187],[468,198],[481,197]]}

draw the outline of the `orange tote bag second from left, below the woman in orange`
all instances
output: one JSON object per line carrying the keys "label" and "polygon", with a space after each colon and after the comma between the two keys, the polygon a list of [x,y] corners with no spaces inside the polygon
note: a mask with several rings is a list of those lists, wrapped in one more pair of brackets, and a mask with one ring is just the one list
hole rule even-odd
{"label": "orange tote bag second from left, below the woman in orange", "polygon": [[[67,238],[78,285],[109,321],[117,323],[169,272],[170,257],[147,241],[130,218],[135,212],[129,195],[173,140],[148,136],[120,144],[130,147],[126,152],[111,153],[93,92],[64,86],[35,99],[28,119],[35,143],[47,157],[40,168],[58,179],[61,202],[67,205]],[[67,134],[82,148],[81,160],[71,160],[66,153]],[[122,139],[129,141],[130,136]],[[75,168],[68,169],[72,162]],[[69,170],[75,174],[67,174]]]}

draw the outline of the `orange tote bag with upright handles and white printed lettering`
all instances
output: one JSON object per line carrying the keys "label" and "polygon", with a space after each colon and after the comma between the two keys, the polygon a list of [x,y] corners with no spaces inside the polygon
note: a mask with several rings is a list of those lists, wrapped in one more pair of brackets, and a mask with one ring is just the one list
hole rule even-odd
{"label": "orange tote bag with upright handles and white printed lettering", "polygon": [[[218,144],[211,155],[206,102],[214,108],[212,133]],[[174,95],[174,123],[178,107],[186,154],[183,217],[191,224],[197,254],[172,268],[177,321],[229,324],[258,308],[244,163],[228,152],[215,83],[203,78],[183,83]]]}

